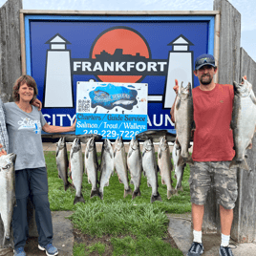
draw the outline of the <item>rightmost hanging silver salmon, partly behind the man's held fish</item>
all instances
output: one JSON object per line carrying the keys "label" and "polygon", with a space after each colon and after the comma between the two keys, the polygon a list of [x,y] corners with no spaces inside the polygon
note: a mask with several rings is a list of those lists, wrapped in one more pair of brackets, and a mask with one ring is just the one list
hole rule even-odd
{"label": "rightmost hanging silver salmon, partly behind the man's held fish", "polygon": [[184,168],[186,165],[185,163],[183,165],[178,165],[178,160],[180,156],[181,156],[181,146],[177,144],[175,141],[173,145],[172,157],[173,157],[173,165],[175,170],[174,178],[177,180],[176,187],[175,187],[176,191],[178,190],[183,191],[181,186],[181,181],[183,178]]}

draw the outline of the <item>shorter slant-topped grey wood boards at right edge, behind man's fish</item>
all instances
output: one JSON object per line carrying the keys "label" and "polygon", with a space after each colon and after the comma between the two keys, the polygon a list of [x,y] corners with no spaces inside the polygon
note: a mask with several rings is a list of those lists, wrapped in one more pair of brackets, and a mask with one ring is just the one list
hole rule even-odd
{"label": "shorter slant-topped grey wood boards at right edge, behind man's fish", "polygon": [[[256,94],[256,62],[241,48],[240,77],[247,75]],[[237,80],[238,81],[238,80]],[[238,170],[238,200],[234,209],[231,237],[239,243],[256,242],[256,139],[253,147],[246,151],[249,172]]]}

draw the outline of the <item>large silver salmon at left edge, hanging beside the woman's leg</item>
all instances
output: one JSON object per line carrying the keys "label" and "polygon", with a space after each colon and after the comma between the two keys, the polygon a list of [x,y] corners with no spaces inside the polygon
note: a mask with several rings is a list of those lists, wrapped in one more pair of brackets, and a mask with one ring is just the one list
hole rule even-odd
{"label": "large silver salmon at left edge, hanging beside the woman's leg", "polygon": [[[5,245],[11,237],[11,220],[15,198],[14,153],[0,157],[0,218],[4,224],[4,238],[0,245]],[[0,221],[1,221],[0,220]]]}

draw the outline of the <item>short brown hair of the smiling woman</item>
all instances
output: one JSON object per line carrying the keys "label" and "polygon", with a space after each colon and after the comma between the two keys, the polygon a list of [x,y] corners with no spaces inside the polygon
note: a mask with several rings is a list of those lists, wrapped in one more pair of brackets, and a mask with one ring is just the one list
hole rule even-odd
{"label": "short brown hair of the smiling woman", "polygon": [[12,97],[14,99],[14,101],[19,101],[19,88],[21,85],[23,84],[27,84],[29,87],[33,88],[33,96],[32,96],[32,100],[30,103],[32,103],[32,101],[36,98],[36,96],[38,95],[38,90],[37,90],[37,85],[35,80],[32,78],[31,75],[21,75],[14,83],[13,85],[13,89],[12,89]]}

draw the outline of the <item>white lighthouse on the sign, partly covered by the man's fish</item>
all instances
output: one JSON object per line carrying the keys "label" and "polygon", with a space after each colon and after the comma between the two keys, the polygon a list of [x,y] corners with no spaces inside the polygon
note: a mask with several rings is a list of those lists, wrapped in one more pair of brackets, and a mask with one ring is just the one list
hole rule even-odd
{"label": "white lighthouse on the sign, partly covered by the man's fish", "polygon": [[[169,109],[175,100],[176,94],[173,90],[175,79],[178,79],[179,85],[183,82],[183,86],[191,84],[193,88],[193,52],[189,51],[192,44],[182,34],[175,38],[168,45],[172,46],[169,52],[168,71],[165,85],[164,108]],[[191,89],[192,89],[191,88]]]}

